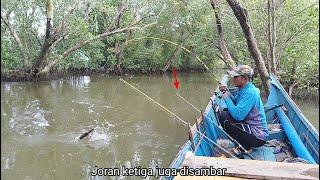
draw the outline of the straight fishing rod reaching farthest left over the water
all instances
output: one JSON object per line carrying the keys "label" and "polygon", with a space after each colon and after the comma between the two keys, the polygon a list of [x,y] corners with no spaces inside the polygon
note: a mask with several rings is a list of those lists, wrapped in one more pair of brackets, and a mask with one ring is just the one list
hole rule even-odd
{"label": "straight fishing rod reaching farthest left over the water", "polygon": [[[176,115],[175,113],[171,112],[169,109],[165,108],[164,106],[162,106],[160,103],[158,103],[157,101],[155,101],[154,99],[152,99],[151,97],[149,97],[148,95],[146,95],[145,93],[143,93],[142,91],[140,91],[139,89],[137,89],[136,87],[134,87],[133,85],[131,85],[130,83],[128,83],[127,81],[123,80],[122,78],[119,79],[121,82],[123,82],[125,85],[129,86],[131,89],[135,90],[136,92],[138,92],[139,94],[143,95],[144,97],[146,97],[149,101],[153,102],[154,104],[158,105],[163,111],[165,111],[166,113],[174,116],[178,122],[180,122],[183,126],[185,127],[189,127],[189,123],[185,122],[183,119],[181,119],[178,115]],[[210,143],[214,144],[216,147],[218,147],[218,149],[220,151],[222,151],[224,154],[227,154],[228,156],[232,157],[232,158],[237,158],[236,156],[234,156],[233,154],[231,154],[229,151],[227,151],[226,149],[224,149],[222,146],[220,146],[219,144],[215,143],[214,141],[212,141],[209,137],[207,137],[205,134],[203,134],[202,132],[198,131],[197,129],[195,130],[197,133],[199,133],[201,136],[203,136],[207,141],[209,141]]]}

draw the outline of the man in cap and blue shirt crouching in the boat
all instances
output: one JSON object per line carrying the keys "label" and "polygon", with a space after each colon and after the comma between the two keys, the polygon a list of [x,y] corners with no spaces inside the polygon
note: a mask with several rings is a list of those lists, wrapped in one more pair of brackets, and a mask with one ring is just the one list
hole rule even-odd
{"label": "man in cap and blue shirt crouching in the boat", "polygon": [[[263,146],[269,132],[260,90],[251,82],[253,69],[247,65],[239,65],[228,71],[228,74],[239,91],[233,96],[226,86],[219,86],[227,105],[220,113],[219,121],[224,130],[246,150]],[[236,153],[240,151],[239,147],[235,148]]]}

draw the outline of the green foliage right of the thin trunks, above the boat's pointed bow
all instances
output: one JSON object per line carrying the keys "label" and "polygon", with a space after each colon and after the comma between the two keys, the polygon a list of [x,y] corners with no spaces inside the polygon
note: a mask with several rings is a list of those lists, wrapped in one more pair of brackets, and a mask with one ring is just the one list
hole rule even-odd
{"label": "green foliage right of the thin trunks, above the boat's pointed bow", "polygon": [[[279,10],[279,44],[285,44],[280,57],[279,75],[289,84],[291,78],[298,82],[298,89],[306,89],[308,84],[319,86],[319,5],[316,1],[288,1]],[[278,46],[279,51],[281,46]],[[278,51],[278,52],[279,52]],[[279,52],[281,53],[281,52]],[[292,67],[297,63],[296,74]]]}

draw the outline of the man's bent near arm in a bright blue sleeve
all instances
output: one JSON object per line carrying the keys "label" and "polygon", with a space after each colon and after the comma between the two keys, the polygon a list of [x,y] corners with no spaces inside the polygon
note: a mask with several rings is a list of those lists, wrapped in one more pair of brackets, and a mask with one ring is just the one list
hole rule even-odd
{"label": "man's bent near arm in a bright blue sleeve", "polygon": [[239,99],[237,105],[234,104],[230,96],[224,99],[230,115],[236,121],[242,121],[245,117],[247,117],[255,104],[256,95],[253,92],[249,92],[240,98],[241,99]]}

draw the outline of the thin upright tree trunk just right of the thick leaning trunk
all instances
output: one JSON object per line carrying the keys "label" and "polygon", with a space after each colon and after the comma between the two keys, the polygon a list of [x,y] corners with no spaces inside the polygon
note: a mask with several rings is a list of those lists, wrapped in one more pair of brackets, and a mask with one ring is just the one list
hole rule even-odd
{"label": "thin upright tree trunk just right of the thick leaning trunk", "polygon": [[274,21],[275,5],[274,0],[268,0],[268,64],[271,72],[277,75],[277,63],[275,54],[276,28]]}

